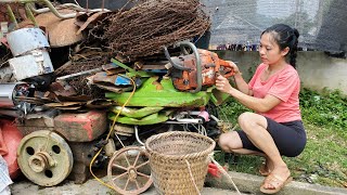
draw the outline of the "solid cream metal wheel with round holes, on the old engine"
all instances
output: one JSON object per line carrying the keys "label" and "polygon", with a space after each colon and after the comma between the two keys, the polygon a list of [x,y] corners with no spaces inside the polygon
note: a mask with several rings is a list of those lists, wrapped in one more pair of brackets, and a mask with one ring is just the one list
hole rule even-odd
{"label": "solid cream metal wheel with round holes, on the old engine", "polygon": [[35,131],[24,136],[17,148],[22,172],[41,186],[61,183],[72,171],[74,158],[65,140],[53,131]]}

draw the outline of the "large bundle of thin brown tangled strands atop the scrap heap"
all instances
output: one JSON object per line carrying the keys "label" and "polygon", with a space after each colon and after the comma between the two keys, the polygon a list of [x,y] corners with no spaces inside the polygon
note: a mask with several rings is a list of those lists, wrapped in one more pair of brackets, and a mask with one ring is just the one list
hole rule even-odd
{"label": "large bundle of thin brown tangled strands atop the scrap heap", "polygon": [[159,53],[163,46],[202,36],[210,21],[198,0],[149,0],[110,15],[103,24],[107,25],[100,38],[132,61]]}

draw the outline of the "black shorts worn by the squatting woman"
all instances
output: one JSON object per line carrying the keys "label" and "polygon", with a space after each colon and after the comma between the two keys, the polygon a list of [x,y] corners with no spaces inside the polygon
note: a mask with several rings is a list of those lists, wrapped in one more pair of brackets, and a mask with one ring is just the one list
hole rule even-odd
{"label": "black shorts worn by the squatting woman", "polygon": [[[271,134],[281,155],[294,157],[304,151],[306,145],[306,132],[301,120],[277,122],[270,118],[265,118],[268,121],[267,130]],[[261,152],[249,141],[244,131],[236,130],[236,132],[241,138],[243,148]]]}

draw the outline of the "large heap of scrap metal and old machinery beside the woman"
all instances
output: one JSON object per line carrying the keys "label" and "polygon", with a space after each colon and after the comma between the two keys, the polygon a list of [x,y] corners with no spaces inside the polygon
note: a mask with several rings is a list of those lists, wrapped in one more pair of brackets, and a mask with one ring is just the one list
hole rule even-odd
{"label": "large heap of scrap metal and old machinery beside the woman", "polygon": [[[121,156],[116,147],[142,143],[139,136],[158,133],[163,125],[220,133],[208,102],[217,74],[229,77],[233,69],[190,42],[210,26],[198,1],[146,0],[127,11],[81,10],[34,9],[39,13],[34,18],[1,29],[0,114],[14,117],[24,135],[12,155],[18,156],[26,178],[42,186],[67,177],[81,183],[89,177],[87,167],[100,168]],[[108,169],[118,162],[113,160]],[[119,178],[113,178],[113,170],[108,177],[113,182]],[[132,184],[139,193],[140,188]]]}

